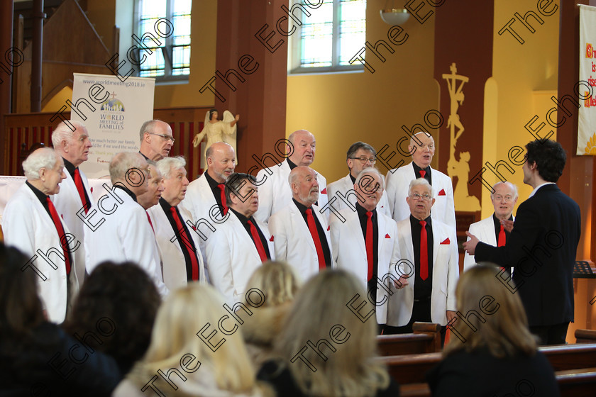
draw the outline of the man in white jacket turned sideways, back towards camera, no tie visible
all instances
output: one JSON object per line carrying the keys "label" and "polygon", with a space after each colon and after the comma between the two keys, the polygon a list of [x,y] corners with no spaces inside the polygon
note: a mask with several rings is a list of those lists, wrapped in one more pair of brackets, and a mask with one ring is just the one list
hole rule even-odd
{"label": "man in white jacket turned sideways, back towards camera, no tie visible", "polygon": [[158,243],[137,196],[148,189],[148,164],[139,153],[122,152],[110,162],[113,189],[99,198],[87,214],[88,273],[104,261],[133,262],[147,272],[162,297],[163,283]]}

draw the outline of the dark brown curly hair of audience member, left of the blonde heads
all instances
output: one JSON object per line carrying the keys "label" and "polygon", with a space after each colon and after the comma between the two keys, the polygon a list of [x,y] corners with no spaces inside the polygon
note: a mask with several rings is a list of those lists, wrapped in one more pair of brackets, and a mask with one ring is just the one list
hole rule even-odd
{"label": "dark brown curly hair of audience member, left of the blonde heads", "polygon": [[89,349],[114,357],[126,374],[149,347],[160,303],[155,284],[137,264],[103,262],[85,279],[64,328]]}

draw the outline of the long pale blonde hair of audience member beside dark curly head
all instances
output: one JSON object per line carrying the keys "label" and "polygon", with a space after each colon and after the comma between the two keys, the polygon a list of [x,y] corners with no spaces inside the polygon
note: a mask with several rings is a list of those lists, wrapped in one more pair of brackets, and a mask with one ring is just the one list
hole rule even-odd
{"label": "long pale blonde hair of audience member beside dark curly head", "polygon": [[[200,371],[205,371],[203,367],[211,369],[206,376],[213,376],[215,384],[221,390],[233,393],[253,391],[254,370],[241,332],[237,330],[231,335],[223,335],[217,329],[223,315],[230,314],[223,308],[223,298],[211,286],[189,283],[185,288],[172,292],[155,318],[151,342],[145,357],[137,362],[128,379],[143,387],[157,374],[158,369],[167,371],[174,367],[184,374],[181,359],[187,354],[193,354],[201,363],[197,374],[200,376]],[[228,321],[233,321],[233,318]],[[209,328],[206,328],[207,325]],[[209,334],[214,330],[217,331],[217,335],[210,337]],[[199,335],[203,335],[214,344],[215,351],[206,345]],[[187,364],[189,367],[195,367],[198,363],[187,361]],[[156,384],[165,382],[159,376],[158,378]],[[168,393],[176,396],[181,395],[182,391]]]}

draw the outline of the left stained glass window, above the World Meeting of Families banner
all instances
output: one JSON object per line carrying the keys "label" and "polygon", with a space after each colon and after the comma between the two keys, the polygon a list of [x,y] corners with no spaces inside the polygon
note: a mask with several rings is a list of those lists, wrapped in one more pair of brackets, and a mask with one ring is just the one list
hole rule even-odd
{"label": "left stained glass window, above the World Meeting of Families banner", "polygon": [[[139,54],[140,77],[166,77],[190,74],[190,11],[192,0],[139,0],[138,1],[138,28],[139,38],[150,33],[160,42],[155,43],[150,38],[143,40],[145,47]],[[173,26],[173,33],[164,38],[156,33],[155,23],[165,18],[169,24],[158,25],[162,35],[167,33],[169,26]]]}

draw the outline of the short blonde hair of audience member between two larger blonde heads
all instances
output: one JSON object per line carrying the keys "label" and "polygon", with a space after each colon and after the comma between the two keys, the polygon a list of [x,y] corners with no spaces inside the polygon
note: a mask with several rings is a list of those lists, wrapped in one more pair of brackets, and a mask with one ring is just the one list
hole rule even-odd
{"label": "short blonde hair of audience member between two larger blonde heads", "polygon": [[281,261],[265,262],[248,280],[247,289],[258,289],[265,294],[263,308],[293,301],[298,281],[289,264]]}

